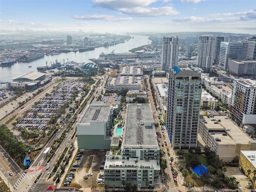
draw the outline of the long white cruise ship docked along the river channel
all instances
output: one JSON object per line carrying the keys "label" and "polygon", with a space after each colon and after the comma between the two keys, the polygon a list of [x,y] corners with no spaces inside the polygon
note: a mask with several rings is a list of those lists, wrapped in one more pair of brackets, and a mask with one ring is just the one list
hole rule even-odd
{"label": "long white cruise ship docked along the river channel", "polygon": [[135,53],[114,53],[114,50],[110,53],[101,53],[98,58],[89,59],[92,62],[108,62],[118,61],[122,59],[140,59],[140,60],[158,60],[161,61],[162,53],[155,48],[152,52],[146,52],[144,50],[136,51]]}

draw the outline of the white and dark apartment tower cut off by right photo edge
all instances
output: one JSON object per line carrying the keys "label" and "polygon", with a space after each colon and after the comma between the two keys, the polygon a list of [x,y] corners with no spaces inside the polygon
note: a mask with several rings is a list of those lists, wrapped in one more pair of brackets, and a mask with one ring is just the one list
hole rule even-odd
{"label": "white and dark apartment tower cut off by right photo edge", "polygon": [[241,127],[256,124],[256,80],[234,79],[230,115]]}

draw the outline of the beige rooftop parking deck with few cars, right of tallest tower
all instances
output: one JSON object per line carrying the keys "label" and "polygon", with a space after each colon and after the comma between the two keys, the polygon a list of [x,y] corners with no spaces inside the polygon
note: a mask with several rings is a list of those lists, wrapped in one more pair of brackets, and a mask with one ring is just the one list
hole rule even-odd
{"label": "beige rooftop parking deck with few cars, right of tallest tower", "polygon": [[[252,140],[252,138],[226,116],[214,116],[213,118],[204,116],[204,119],[207,121],[205,126],[208,130],[215,133],[212,135],[213,138],[218,137],[221,139],[221,142],[218,142],[219,144],[248,144]],[[218,122],[218,124],[214,124],[214,122]],[[225,133],[227,136],[222,135]]]}

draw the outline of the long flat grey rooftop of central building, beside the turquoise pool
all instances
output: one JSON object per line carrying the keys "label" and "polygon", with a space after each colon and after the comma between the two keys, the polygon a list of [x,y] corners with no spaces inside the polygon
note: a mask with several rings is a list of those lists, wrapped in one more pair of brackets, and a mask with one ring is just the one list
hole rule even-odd
{"label": "long flat grey rooftop of central building, beside the turquoise pool", "polygon": [[149,104],[128,104],[124,126],[123,146],[158,147],[156,130]]}

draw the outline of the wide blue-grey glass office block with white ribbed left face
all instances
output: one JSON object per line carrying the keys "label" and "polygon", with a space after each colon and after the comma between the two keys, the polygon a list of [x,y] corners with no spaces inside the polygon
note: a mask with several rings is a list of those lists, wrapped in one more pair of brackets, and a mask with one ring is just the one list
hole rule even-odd
{"label": "wide blue-grey glass office block with white ribbed left face", "polygon": [[228,69],[228,59],[246,59],[248,43],[221,42],[218,67]]}

